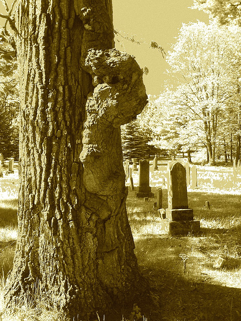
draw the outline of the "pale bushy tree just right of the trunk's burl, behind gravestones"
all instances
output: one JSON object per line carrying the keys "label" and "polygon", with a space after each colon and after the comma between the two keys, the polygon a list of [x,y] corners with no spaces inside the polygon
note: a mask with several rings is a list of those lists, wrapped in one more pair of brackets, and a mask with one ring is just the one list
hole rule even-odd
{"label": "pale bushy tree just right of the trunk's burl, behind gravestones", "polygon": [[168,151],[170,156],[187,152],[191,162],[191,152],[200,147],[200,130],[196,119],[192,120],[177,103],[175,91],[167,89],[158,99],[149,101],[138,118],[152,130],[151,144]]}

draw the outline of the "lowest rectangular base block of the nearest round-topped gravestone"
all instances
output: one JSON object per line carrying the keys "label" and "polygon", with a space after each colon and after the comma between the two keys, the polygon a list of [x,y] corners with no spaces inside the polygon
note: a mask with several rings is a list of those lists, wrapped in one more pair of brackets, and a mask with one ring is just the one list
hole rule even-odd
{"label": "lowest rectangular base block of the nearest round-topped gravestone", "polygon": [[161,221],[161,227],[169,235],[188,235],[200,231],[200,221],[169,221],[164,219]]}

